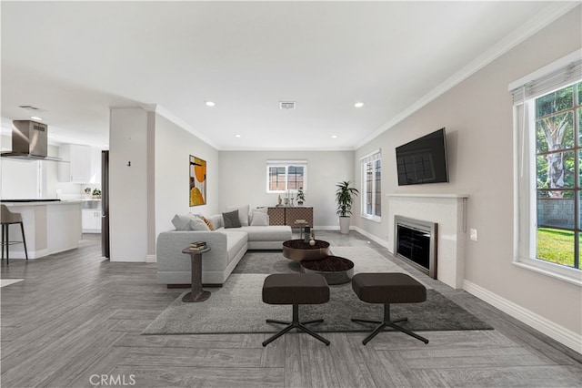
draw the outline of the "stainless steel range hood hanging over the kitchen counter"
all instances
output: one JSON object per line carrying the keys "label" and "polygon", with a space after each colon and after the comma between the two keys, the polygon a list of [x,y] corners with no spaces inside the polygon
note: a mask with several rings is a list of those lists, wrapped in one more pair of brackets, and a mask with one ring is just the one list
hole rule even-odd
{"label": "stainless steel range hood hanging over the kitchen counter", "polygon": [[48,126],[32,120],[14,120],[12,122],[12,151],[2,152],[2,158],[21,160],[61,161],[47,155]]}

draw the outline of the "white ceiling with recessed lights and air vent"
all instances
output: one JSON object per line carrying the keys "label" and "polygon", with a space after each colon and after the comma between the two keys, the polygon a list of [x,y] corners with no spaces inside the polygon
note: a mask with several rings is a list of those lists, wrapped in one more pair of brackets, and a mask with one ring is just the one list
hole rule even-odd
{"label": "white ceiling with recessed lights and air vent", "polygon": [[3,133],[35,115],[49,141],[102,147],[109,107],[153,106],[218,149],[354,149],[569,9],[503,1],[1,6]]}

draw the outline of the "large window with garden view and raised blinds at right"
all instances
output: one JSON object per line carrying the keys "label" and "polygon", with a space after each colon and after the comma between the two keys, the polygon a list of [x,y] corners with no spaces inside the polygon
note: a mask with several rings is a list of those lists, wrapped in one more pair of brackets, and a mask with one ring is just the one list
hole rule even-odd
{"label": "large window with garden view and raised blinds at right", "polygon": [[575,54],[510,86],[517,139],[515,262],[582,284],[582,61]]}

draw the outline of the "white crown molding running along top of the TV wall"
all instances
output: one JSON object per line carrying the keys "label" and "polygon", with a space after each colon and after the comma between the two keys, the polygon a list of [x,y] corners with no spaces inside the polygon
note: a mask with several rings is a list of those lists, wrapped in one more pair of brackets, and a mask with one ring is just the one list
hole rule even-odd
{"label": "white crown molding running along top of the TV wall", "polygon": [[486,52],[477,56],[473,61],[469,62],[467,66],[464,66],[460,70],[457,71],[451,77],[448,77],[445,81],[440,83],[437,87],[429,91],[424,97],[416,100],[410,107],[407,107],[405,110],[400,112],[400,114],[396,115],[396,117],[392,118],[390,121],[386,122],[382,127],[376,129],[372,134],[367,136],[366,138],[362,139],[359,143],[356,144],[356,149],[365,146],[367,143],[372,141],[374,138],[377,138],[386,130],[396,126],[397,123],[404,120],[406,117],[411,116],[416,111],[420,110],[422,107],[425,107],[431,101],[437,99],[448,90],[453,87],[456,87],[459,83],[467,79],[468,77],[472,76],[473,74],[477,73],[478,70],[487,66],[494,60],[496,60],[499,56],[504,55],[512,49],[513,47],[517,46],[528,37],[533,36],[541,29],[545,28],[549,24],[553,23],[557,20],[558,17],[562,15],[566,15],[569,11],[574,9],[580,5],[579,1],[567,1],[567,2],[553,2],[550,5],[547,5],[544,9],[538,12],[534,17],[529,19],[526,23],[519,26],[516,30],[514,30],[511,34],[507,35],[504,39],[497,42],[496,45],[491,46]]}

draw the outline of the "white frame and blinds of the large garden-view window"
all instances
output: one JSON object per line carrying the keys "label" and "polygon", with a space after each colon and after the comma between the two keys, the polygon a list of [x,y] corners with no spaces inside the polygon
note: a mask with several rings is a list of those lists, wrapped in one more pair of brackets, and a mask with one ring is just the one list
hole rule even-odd
{"label": "white frame and blinds of the large garden-view window", "polygon": [[[537,79],[560,72],[579,58],[580,52],[558,59],[527,77],[512,83],[509,90],[514,95],[514,255],[513,264],[560,281],[582,286],[582,270],[567,265],[537,259],[537,148],[536,148],[536,100],[549,93],[577,84],[582,76],[563,82],[562,85],[529,93],[528,86],[536,86]],[[579,65],[578,65],[579,66]],[[531,83],[531,84],[530,84]],[[576,111],[575,111],[576,112]],[[574,117],[576,120],[577,117]],[[578,141],[577,139],[575,139]],[[577,158],[577,155],[575,155]],[[577,172],[577,170],[576,170]],[[574,188],[577,189],[577,188]],[[575,191],[577,193],[577,191]],[[574,200],[577,200],[575,196]],[[576,241],[576,240],[575,240]]]}

